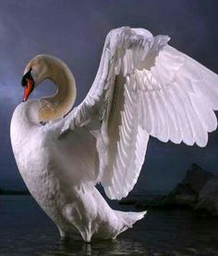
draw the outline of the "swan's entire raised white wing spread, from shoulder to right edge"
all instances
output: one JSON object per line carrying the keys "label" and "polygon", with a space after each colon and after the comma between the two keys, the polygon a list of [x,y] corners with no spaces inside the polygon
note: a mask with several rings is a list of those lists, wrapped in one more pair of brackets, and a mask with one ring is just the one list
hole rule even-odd
{"label": "swan's entire raised white wing spread, from shoulder to right edge", "polygon": [[96,139],[99,177],[109,198],[136,184],[149,135],[204,147],[216,129],[218,76],[142,29],[109,32],[89,94],[63,133],[87,126]]}

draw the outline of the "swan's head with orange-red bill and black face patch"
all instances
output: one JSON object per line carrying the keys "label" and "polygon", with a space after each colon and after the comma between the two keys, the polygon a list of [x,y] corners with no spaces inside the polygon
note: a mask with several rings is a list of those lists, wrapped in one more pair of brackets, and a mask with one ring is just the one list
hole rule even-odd
{"label": "swan's head with orange-red bill and black face patch", "polygon": [[48,78],[48,59],[52,58],[46,55],[38,55],[27,64],[21,80],[24,88],[23,101],[26,101],[34,88]]}

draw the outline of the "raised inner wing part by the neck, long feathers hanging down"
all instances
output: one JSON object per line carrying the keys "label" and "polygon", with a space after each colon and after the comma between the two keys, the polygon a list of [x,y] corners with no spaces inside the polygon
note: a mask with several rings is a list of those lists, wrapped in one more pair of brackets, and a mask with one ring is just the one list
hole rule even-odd
{"label": "raised inner wing part by the neck, long feathers hanging down", "polygon": [[158,54],[168,40],[168,36],[152,37],[150,32],[139,29],[109,32],[91,90],[66,118],[62,135],[86,126],[96,137],[97,182],[102,183],[109,198],[126,197],[136,184],[149,140],[141,126],[142,95],[132,71],[136,65],[149,66],[143,62],[145,56],[150,51],[152,55]]}

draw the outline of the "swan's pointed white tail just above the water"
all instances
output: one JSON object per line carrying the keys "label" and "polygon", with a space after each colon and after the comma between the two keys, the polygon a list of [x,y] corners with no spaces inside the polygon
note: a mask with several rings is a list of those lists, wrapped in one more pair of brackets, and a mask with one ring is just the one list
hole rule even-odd
{"label": "swan's pointed white tail just above the water", "polygon": [[127,230],[127,228],[131,228],[133,224],[135,224],[137,221],[145,216],[146,212],[147,211],[115,211],[115,214],[119,220],[119,228],[117,229],[117,232],[113,238],[117,237],[120,233]]}

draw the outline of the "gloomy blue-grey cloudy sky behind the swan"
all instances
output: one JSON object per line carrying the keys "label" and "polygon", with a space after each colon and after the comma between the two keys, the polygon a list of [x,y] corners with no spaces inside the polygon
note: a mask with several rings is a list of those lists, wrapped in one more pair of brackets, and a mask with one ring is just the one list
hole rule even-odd
{"label": "gloomy blue-grey cloudy sky behind the swan", "polygon": [[[76,104],[91,87],[107,32],[124,25],[168,34],[170,45],[218,73],[217,7],[216,0],[0,0],[0,187],[25,187],[10,146],[9,125],[31,58],[45,53],[67,63],[78,87]],[[31,97],[55,91],[52,83],[43,85]],[[169,190],[192,162],[218,174],[217,156],[218,131],[210,134],[204,148],[151,138],[135,190]]]}

